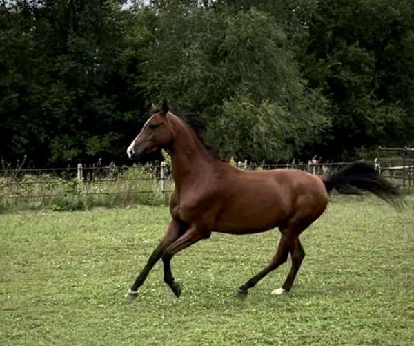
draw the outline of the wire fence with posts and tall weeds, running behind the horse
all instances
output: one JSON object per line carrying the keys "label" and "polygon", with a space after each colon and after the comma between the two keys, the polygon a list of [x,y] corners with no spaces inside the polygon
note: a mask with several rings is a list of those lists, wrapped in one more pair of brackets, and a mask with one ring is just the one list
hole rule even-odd
{"label": "wire fence with posts and tall weeds, running behind the horse", "polygon": [[[251,164],[240,161],[237,169],[300,169],[325,175],[349,162],[291,162]],[[414,159],[378,158],[377,170],[396,184],[411,188],[414,184]],[[0,210],[42,209],[75,210],[92,206],[130,204],[165,205],[174,190],[171,169],[165,163],[139,166],[99,166],[66,168],[0,169]]]}

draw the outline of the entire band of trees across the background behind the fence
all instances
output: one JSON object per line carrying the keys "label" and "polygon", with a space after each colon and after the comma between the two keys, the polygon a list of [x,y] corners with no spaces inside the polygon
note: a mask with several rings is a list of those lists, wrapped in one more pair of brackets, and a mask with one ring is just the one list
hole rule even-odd
{"label": "entire band of trees across the background behind the fence", "polygon": [[1,3],[3,159],[126,162],[164,98],[226,159],[414,145],[412,0],[124,2]]}

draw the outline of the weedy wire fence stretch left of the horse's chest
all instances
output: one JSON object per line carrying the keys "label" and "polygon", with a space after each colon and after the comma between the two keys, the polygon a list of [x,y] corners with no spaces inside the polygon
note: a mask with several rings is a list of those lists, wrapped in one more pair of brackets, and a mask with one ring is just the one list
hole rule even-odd
{"label": "weedy wire fence stretch left of the horse's chest", "polygon": [[174,189],[165,163],[0,169],[0,209],[162,205]]}

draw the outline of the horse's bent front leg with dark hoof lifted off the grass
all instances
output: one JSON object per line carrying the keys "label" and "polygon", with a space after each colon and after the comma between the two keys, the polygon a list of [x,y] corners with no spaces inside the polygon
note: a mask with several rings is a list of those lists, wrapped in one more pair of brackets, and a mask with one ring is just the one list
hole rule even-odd
{"label": "horse's bent front leg with dark hoof lifted off the grass", "polygon": [[210,233],[203,233],[200,229],[197,229],[197,227],[190,227],[186,233],[166,247],[162,255],[162,262],[164,262],[164,282],[166,282],[177,298],[181,296],[181,285],[179,285],[179,282],[175,282],[174,277],[172,276],[170,265],[172,256],[201,239],[209,238],[209,236]]}

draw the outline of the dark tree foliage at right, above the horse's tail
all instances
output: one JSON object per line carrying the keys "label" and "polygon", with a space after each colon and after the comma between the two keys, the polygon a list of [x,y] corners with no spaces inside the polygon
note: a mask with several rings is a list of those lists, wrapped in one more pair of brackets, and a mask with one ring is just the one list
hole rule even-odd
{"label": "dark tree foliage at right, above the horse's tail", "polygon": [[324,0],[313,8],[300,59],[311,85],[331,99],[325,156],[414,144],[413,8],[411,0]]}

